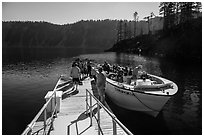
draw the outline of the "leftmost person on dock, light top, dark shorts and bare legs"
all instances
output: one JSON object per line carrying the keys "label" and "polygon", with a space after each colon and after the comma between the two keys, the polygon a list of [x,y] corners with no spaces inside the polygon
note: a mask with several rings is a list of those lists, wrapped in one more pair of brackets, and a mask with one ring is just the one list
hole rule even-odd
{"label": "leftmost person on dock, light top, dark shorts and bare legs", "polygon": [[76,62],[74,62],[72,64],[70,76],[72,77],[72,81],[73,81],[74,85],[76,85],[76,90],[78,90],[78,84],[80,83],[80,77],[81,77],[81,70],[77,66]]}

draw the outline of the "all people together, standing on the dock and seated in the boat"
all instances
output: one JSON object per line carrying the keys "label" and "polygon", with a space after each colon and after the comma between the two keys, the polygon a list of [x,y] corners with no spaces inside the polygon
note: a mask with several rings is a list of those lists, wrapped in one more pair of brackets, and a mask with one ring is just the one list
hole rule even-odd
{"label": "all people together, standing on the dock and seated in the boat", "polygon": [[142,76],[146,74],[142,69],[142,65],[138,65],[134,69],[130,67],[120,67],[118,65],[110,66],[107,62],[104,62],[102,66],[98,68],[98,73],[92,69],[90,60],[86,59],[84,61],[76,59],[72,64],[72,69],[70,76],[72,77],[73,83],[76,85],[78,90],[78,84],[81,82],[83,77],[91,77],[96,81],[96,87],[99,94],[99,99],[101,102],[105,101],[105,86],[106,86],[106,77],[103,74],[103,71],[106,73],[114,72],[117,74],[116,81],[123,83],[123,76],[132,76],[131,79],[143,78]]}

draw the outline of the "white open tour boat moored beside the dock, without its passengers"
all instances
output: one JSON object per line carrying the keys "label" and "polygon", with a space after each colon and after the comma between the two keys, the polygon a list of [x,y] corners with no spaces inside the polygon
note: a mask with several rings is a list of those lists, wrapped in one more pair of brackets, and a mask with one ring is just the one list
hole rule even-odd
{"label": "white open tour boat moored beside the dock, without its passengers", "polygon": [[178,91],[177,85],[165,78],[148,74],[147,79],[132,80],[127,76],[125,82],[117,82],[111,73],[106,77],[106,95],[116,105],[144,112],[156,117],[166,102]]}

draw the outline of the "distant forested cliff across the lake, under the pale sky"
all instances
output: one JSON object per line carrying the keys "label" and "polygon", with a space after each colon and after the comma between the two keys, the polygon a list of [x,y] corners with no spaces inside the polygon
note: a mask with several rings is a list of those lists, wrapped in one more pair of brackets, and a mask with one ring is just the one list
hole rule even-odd
{"label": "distant forested cliff across the lake, under the pale sky", "polygon": [[[80,21],[54,25],[47,22],[3,22],[3,47],[79,47],[104,51],[116,41],[118,20]],[[134,22],[130,22],[133,35]],[[162,28],[162,19],[150,21],[150,29]],[[137,22],[136,33],[147,34],[148,23]]]}

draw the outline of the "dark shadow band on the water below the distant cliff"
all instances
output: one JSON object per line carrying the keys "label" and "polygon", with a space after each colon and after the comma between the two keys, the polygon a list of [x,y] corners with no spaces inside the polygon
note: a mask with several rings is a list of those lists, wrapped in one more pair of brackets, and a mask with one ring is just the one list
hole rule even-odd
{"label": "dark shadow band on the water below the distant cliff", "polygon": [[2,48],[2,64],[31,62],[33,60],[53,60],[96,53],[97,49],[84,48]]}

